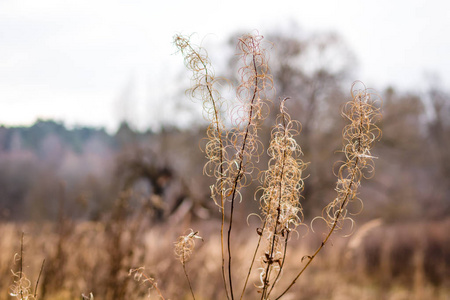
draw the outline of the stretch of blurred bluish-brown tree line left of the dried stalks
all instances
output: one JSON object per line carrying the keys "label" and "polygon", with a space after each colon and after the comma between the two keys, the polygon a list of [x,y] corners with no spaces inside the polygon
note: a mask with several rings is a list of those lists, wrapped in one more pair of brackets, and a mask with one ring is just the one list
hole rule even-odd
{"label": "stretch of blurred bluish-brown tree line left of the dried stalks", "polygon": [[[205,198],[201,189],[191,193],[187,187],[196,186],[189,173],[196,157],[201,160],[198,148],[187,145],[199,136],[170,126],[139,132],[125,121],[114,134],[68,129],[53,120],[1,126],[0,220],[56,221],[61,214],[99,220],[125,190],[134,192],[132,205],[148,202],[155,218],[165,218],[186,198]],[[201,167],[193,172],[198,171],[201,181]]]}

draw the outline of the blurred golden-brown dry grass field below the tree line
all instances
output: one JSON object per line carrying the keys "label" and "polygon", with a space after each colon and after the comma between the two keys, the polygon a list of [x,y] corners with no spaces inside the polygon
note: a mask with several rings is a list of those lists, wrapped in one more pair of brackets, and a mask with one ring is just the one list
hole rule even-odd
{"label": "blurred golden-brown dry grass field below the tree line", "polygon": [[[38,289],[41,299],[80,299],[81,294],[90,292],[95,299],[147,299],[149,286],[128,276],[129,269],[138,267],[145,267],[166,299],[190,299],[181,265],[173,254],[173,242],[185,227],[147,226],[145,220],[137,225],[133,220],[123,222],[1,224],[0,299],[11,299],[5,297],[11,284],[7,278],[11,278],[10,270],[18,267],[13,257],[20,251],[21,231],[25,232],[24,273],[32,282],[46,258]],[[220,240],[214,232],[219,224],[191,225],[204,238],[188,264],[196,297],[223,299]],[[286,299],[450,299],[449,230],[450,220],[361,224],[351,238],[336,235]],[[242,265],[241,273],[256,237],[246,231],[236,237],[234,265]],[[305,238],[293,238],[291,260],[282,280],[293,276],[301,257],[320,243],[319,237],[310,232]],[[253,277],[252,283],[258,284],[258,278]],[[158,298],[154,290],[150,294]],[[246,298],[257,297],[250,288]]]}

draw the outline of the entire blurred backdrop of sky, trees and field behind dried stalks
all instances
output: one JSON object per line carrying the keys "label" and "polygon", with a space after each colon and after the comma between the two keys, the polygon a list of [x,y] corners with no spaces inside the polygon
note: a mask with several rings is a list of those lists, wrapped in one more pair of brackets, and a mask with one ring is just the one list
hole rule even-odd
{"label": "entire blurred backdrop of sky, trees and field behind dried stalks", "polygon": [[[0,0],[0,299],[12,298],[22,232],[33,284],[46,260],[39,298],[157,297],[128,276],[145,266],[166,299],[189,299],[171,253],[194,226],[205,240],[192,260],[194,288],[199,299],[224,298],[220,213],[199,149],[207,123],[185,95],[189,72],[172,38],[192,35],[208,50],[232,102],[236,41],[247,32],[271,42],[271,98],[289,96],[303,126],[308,225],[334,198],[352,82],[383,99],[376,173],[362,182],[354,232],[338,233],[287,297],[449,299],[448,11],[445,1],[418,0]],[[265,145],[273,124],[270,115]],[[238,265],[256,239],[246,220],[258,212],[257,187],[240,204]],[[287,277],[318,244],[311,232],[293,241]]]}

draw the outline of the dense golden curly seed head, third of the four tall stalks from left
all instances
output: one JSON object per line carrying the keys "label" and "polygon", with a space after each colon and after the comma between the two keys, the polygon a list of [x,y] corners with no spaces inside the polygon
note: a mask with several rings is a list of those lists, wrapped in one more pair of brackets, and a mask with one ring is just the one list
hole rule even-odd
{"label": "dense golden curly seed head, third of the four tall stalks from left", "polygon": [[289,232],[295,230],[303,218],[300,193],[306,164],[299,158],[302,151],[294,139],[300,134],[301,124],[291,120],[284,106],[285,100],[280,104],[277,125],[272,130],[267,149],[270,160],[263,174],[263,194],[260,198],[264,221],[259,233],[267,240],[260,275],[263,286],[269,284],[272,270],[280,271]]}

